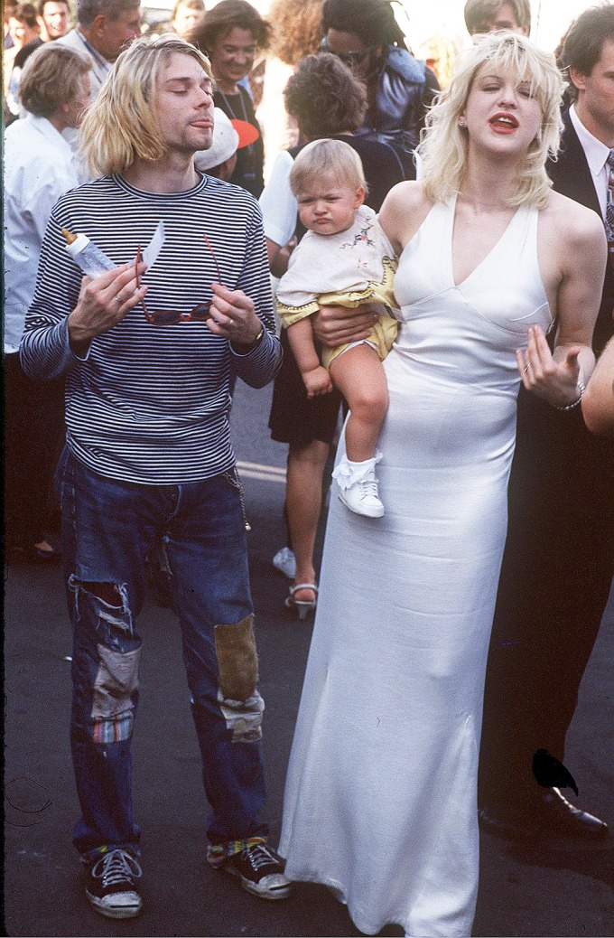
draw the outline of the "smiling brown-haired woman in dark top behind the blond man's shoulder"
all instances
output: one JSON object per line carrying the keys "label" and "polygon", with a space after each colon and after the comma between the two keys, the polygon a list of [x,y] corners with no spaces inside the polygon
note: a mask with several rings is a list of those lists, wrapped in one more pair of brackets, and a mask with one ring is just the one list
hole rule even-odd
{"label": "smiling brown-haired woman in dark top behind the blond man's shoulder", "polygon": [[237,151],[231,182],[256,198],[264,185],[262,131],[253,101],[241,84],[254,65],[259,50],[266,49],[271,27],[247,0],[220,0],[208,10],[187,39],[209,56],[216,81],[216,105],[231,120],[247,121],[258,130],[253,144]]}

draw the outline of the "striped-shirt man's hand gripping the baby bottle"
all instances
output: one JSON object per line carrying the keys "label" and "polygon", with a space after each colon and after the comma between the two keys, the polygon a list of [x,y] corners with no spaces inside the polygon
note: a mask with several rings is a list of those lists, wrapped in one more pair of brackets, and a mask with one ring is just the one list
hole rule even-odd
{"label": "striped-shirt man's hand gripping the baby bottle", "polygon": [[68,315],[68,340],[75,355],[87,351],[91,340],[120,323],[147,293],[138,276],[146,270],[139,264],[122,264],[98,277],[83,277],[77,306]]}

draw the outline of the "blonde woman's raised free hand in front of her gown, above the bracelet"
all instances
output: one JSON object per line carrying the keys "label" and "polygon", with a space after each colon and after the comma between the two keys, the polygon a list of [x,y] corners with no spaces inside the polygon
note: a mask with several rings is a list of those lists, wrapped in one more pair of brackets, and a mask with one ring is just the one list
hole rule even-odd
{"label": "blonde woman's raised free hand in front of her gown, above the bracelet", "polygon": [[522,384],[553,407],[567,407],[580,397],[580,367],[577,357],[585,349],[575,344],[557,346],[550,352],[539,325],[532,325],[525,352],[516,353]]}

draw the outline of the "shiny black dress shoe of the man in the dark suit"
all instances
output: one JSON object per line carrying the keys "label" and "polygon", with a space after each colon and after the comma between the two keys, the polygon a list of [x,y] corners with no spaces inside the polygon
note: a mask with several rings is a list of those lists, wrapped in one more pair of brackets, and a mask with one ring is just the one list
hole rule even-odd
{"label": "shiny black dress shoe of the man in the dark suit", "polygon": [[547,840],[607,837],[607,824],[576,808],[558,788],[537,789],[522,806],[487,806],[478,809],[482,830],[504,840]]}

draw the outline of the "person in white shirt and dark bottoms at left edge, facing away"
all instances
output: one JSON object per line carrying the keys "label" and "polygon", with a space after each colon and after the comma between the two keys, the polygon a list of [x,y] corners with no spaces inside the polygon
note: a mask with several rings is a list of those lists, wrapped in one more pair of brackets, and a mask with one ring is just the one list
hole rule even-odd
{"label": "person in white shirt and dark bottoms at left edge, facing away", "polygon": [[5,531],[9,556],[23,560],[57,559],[46,540],[47,495],[64,391],[61,380],[42,386],[27,378],[18,350],[52,207],[82,181],[62,131],[81,124],[91,68],[88,58],[58,43],[37,49],[22,73],[27,116],[5,133]]}

